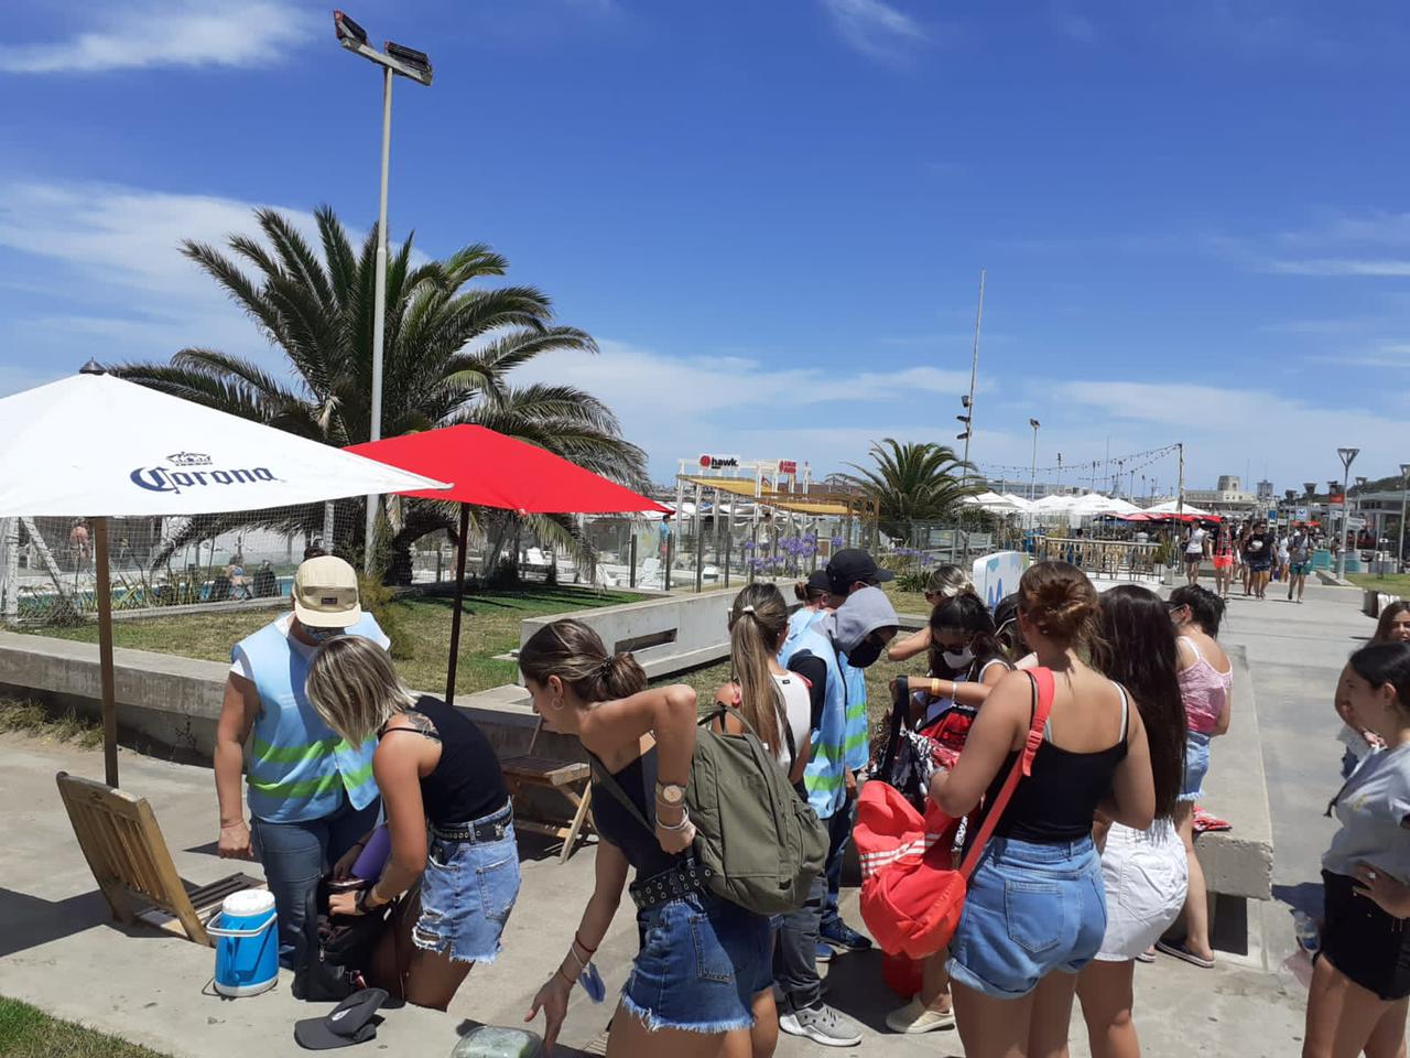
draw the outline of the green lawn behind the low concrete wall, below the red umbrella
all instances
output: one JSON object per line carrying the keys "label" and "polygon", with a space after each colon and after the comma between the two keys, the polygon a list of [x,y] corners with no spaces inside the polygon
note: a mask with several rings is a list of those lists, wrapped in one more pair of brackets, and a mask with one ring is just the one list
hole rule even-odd
{"label": "green lawn behind the low concrete wall, below the red umbrella", "polygon": [[[495,655],[508,653],[519,646],[519,622],[525,618],[615,607],[639,600],[640,595],[626,591],[592,591],[541,584],[526,585],[517,591],[482,591],[467,595],[460,625],[457,694],[474,694],[513,683],[517,674],[515,663],[495,660]],[[396,662],[402,679],[419,690],[431,693],[444,690],[450,621],[455,601],[419,597],[391,605],[410,649],[409,657]],[[276,614],[278,611],[261,609],[118,621],[113,625],[113,645],[207,662],[227,662],[230,647],[235,642],[264,628]],[[23,631],[87,643],[97,642],[96,625],[27,626]]]}

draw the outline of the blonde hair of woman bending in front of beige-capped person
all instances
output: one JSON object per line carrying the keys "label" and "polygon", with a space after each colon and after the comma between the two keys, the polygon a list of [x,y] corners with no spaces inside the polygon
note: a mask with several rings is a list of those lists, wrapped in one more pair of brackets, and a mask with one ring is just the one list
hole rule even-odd
{"label": "blonde hair of woman bending in front of beige-capped person", "polygon": [[416,704],[386,652],[362,636],[330,639],[313,655],[305,683],[323,722],[360,746],[388,719]]}

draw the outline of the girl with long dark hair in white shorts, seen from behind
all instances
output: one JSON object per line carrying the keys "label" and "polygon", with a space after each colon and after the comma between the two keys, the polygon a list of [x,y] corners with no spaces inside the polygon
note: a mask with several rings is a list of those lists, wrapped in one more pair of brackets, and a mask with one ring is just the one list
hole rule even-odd
{"label": "girl with long dark hair in white shorts, seen from behind", "polygon": [[1144,831],[1097,821],[1107,889],[1101,949],[1077,978],[1093,1058],[1141,1054],[1131,1020],[1135,959],[1179,917],[1189,884],[1184,844],[1172,817],[1184,777],[1186,719],[1179,653],[1165,602],[1124,585],[1101,597],[1101,671],[1122,684],[1145,721],[1155,779],[1155,822]]}

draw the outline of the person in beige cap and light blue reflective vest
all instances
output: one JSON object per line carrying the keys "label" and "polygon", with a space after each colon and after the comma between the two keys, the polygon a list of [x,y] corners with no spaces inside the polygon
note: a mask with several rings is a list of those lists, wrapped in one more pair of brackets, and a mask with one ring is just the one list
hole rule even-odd
{"label": "person in beige cap and light blue reflective vest", "polygon": [[[216,725],[220,855],[264,865],[279,916],[279,962],[293,968],[305,907],[319,879],[375,824],[376,739],[350,746],[305,691],[319,646],[336,636],[391,640],[358,601],[357,573],[331,554],[293,578],[293,612],[235,643]],[[251,736],[252,735],[252,736]],[[250,743],[245,822],[240,774]]]}

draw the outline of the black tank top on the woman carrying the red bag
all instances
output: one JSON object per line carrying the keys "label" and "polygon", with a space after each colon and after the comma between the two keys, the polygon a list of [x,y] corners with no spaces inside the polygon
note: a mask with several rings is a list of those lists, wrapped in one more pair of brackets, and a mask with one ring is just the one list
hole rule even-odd
{"label": "black tank top on the woman carrying the red bag", "polygon": [[[1049,728],[1043,728],[1043,741],[1034,753],[1032,772],[1018,782],[1014,796],[1004,810],[1004,817],[994,827],[994,837],[1018,838],[1036,845],[1056,845],[1080,841],[1091,835],[1091,821],[1097,805],[1111,793],[1111,776],[1117,765],[1127,756],[1127,728],[1131,707],[1125,690],[1121,691],[1121,741],[1094,753],[1076,753],[1056,746],[1049,741]],[[1018,753],[1010,753],[998,774],[988,784],[984,804],[990,805],[1004,789]],[[986,810],[987,811],[987,810]],[[971,827],[977,834],[983,815]]]}

